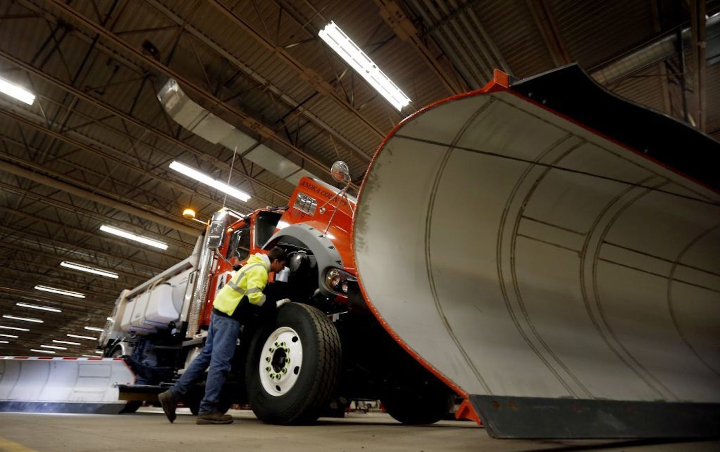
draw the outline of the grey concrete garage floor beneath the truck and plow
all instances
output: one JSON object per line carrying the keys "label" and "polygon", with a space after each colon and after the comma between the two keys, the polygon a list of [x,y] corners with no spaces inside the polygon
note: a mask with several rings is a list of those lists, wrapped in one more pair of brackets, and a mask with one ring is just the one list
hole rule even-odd
{"label": "grey concrete garage floor beneath the truck and plow", "polygon": [[0,452],[84,451],[719,451],[720,441],[657,443],[604,440],[493,440],[472,422],[400,425],[382,413],[323,418],[317,425],[265,425],[231,410],[232,425],[196,425],[180,409],[170,424],[158,408],[132,415],[0,412]]}

